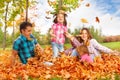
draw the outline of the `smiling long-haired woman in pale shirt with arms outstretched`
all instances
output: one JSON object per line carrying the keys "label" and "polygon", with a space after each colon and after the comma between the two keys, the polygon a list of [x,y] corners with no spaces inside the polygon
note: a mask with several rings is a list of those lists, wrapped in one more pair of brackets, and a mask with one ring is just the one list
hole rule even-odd
{"label": "smiling long-haired woman in pale shirt with arms outstretched", "polygon": [[[102,46],[95,39],[92,38],[89,30],[87,28],[82,28],[80,31],[81,42],[79,42],[75,37],[66,33],[67,37],[72,41],[72,43],[77,47],[81,45],[86,45],[90,53],[90,57],[94,59],[96,56],[100,56],[100,52],[113,53],[111,49]],[[78,56],[77,51],[74,49],[71,56]]]}

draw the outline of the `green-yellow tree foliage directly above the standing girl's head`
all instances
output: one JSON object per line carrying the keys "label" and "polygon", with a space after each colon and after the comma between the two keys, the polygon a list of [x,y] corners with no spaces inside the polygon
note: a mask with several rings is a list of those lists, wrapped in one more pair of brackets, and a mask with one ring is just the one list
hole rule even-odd
{"label": "green-yellow tree foliage directly above the standing girl's head", "polygon": [[48,4],[54,9],[53,13],[56,13],[59,10],[71,12],[80,5],[79,0],[48,0]]}

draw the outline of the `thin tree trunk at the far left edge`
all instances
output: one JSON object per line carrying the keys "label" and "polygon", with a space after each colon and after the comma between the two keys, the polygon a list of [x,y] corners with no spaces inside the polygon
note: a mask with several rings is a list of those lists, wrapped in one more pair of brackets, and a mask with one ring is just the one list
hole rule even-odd
{"label": "thin tree trunk at the far left edge", "polygon": [[6,29],[7,29],[8,6],[9,6],[9,2],[7,3],[6,9],[5,9],[5,27],[4,27],[4,38],[3,38],[3,50],[5,50],[5,48],[6,48]]}

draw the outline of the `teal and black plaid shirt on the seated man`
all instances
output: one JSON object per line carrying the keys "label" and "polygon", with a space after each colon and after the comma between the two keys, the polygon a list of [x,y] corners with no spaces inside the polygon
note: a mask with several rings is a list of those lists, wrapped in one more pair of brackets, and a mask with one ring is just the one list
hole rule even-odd
{"label": "teal and black plaid shirt on the seated man", "polygon": [[27,40],[22,34],[14,41],[13,50],[18,51],[18,55],[23,64],[27,63],[27,59],[34,56],[34,48],[37,44],[33,35],[30,35],[32,40]]}

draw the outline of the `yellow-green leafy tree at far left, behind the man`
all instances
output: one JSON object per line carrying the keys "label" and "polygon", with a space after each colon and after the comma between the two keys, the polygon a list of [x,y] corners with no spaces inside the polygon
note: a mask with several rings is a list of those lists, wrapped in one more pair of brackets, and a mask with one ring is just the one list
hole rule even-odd
{"label": "yellow-green leafy tree at far left, behind the man", "polygon": [[[30,0],[30,2],[29,2],[29,4],[34,4],[34,3],[35,3],[35,0]],[[15,17],[25,11],[26,4],[28,4],[28,3],[26,3],[25,0],[0,0],[0,7],[1,7],[0,8],[0,17],[1,17],[1,19],[3,19],[4,24],[5,24],[3,49],[5,49],[5,47],[6,47],[6,29],[7,29],[7,27],[13,26],[13,35],[14,35]],[[4,14],[5,14],[5,16],[3,16]]]}

